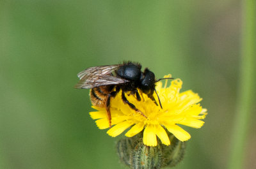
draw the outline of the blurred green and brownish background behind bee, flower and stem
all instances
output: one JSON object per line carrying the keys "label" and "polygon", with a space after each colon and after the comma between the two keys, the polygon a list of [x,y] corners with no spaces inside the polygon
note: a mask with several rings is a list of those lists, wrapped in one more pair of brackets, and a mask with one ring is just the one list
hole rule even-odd
{"label": "blurred green and brownish background behind bee, flower and stem", "polygon": [[[126,168],[115,150],[122,136],[97,129],[89,91],[74,89],[79,71],[124,60],[172,73],[204,98],[209,115],[202,129],[186,128],[176,168],[227,167],[240,1],[2,0],[0,42],[0,168]],[[255,142],[250,135],[244,168],[256,168]]]}

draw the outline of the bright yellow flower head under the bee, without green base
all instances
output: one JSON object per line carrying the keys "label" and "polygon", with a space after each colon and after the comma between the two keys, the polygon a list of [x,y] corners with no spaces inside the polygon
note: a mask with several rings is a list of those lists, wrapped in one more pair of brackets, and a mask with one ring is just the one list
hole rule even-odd
{"label": "bright yellow flower head under the bee, without green base", "polygon": [[[165,77],[170,77],[170,75]],[[170,145],[170,139],[166,131],[172,133],[180,141],[189,140],[191,137],[189,133],[177,124],[191,128],[201,128],[204,125],[204,121],[201,121],[201,119],[205,118],[207,110],[200,107],[199,102],[202,98],[198,94],[190,90],[180,92],[182,81],[179,78],[172,80],[169,87],[167,87],[167,83],[168,80],[166,80],[163,87],[161,82],[157,82],[156,86],[163,109],[141,91],[141,101],[138,101],[132,94],[125,94],[126,98],[147,118],[124,103],[121,92],[115,98],[111,98],[111,124],[115,126],[108,130],[108,135],[118,136],[129,128],[125,136],[131,137],[144,129],[143,143],[148,146],[156,146],[157,137],[163,144]],[[156,94],[154,98],[157,99]],[[97,112],[90,112],[90,115],[92,119],[97,119],[96,124],[99,129],[109,128],[106,108],[95,106],[92,108],[98,110]]]}

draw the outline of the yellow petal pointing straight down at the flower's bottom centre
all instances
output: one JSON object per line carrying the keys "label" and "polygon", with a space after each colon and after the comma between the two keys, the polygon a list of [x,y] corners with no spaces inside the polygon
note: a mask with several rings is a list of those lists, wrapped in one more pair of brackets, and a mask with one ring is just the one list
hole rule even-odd
{"label": "yellow petal pointing straight down at the flower's bottom centre", "polygon": [[144,129],[143,133],[143,143],[148,146],[156,146],[157,140],[156,140],[156,132],[153,125],[148,125]]}

